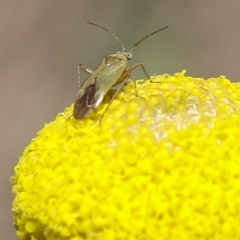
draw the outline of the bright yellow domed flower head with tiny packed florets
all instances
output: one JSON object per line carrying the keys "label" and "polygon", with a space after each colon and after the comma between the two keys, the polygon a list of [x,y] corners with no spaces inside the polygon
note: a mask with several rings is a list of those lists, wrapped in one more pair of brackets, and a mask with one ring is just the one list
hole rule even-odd
{"label": "bright yellow domed flower head with tiny packed florets", "polygon": [[11,179],[20,239],[240,239],[240,84],[151,79],[32,139]]}

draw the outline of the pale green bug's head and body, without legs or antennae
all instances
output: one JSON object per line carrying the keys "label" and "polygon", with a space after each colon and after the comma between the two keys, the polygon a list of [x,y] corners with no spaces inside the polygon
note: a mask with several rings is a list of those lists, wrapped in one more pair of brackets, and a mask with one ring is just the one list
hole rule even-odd
{"label": "pale green bug's head and body, without legs or antennae", "polygon": [[120,52],[103,58],[77,92],[73,110],[76,119],[87,117],[114,85],[127,78],[126,66],[130,57],[131,53]]}

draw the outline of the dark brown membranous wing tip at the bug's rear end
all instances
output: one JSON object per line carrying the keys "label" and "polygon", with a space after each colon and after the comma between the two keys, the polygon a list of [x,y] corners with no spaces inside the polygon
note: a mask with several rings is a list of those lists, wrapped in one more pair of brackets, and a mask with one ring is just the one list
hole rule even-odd
{"label": "dark brown membranous wing tip at the bug's rear end", "polygon": [[96,95],[96,78],[88,88],[80,90],[74,103],[73,116],[76,119],[82,119],[88,116],[94,109]]}

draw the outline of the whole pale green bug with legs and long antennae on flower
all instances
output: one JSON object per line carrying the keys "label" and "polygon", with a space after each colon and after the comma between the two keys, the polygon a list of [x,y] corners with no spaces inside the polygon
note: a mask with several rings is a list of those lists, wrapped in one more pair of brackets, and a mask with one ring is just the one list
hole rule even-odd
{"label": "whole pale green bug with legs and long antennae on flower", "polygon": [[[73,116],[76,119],[86,118],[94,109],[96,109],[100,105],[108,91],[113,86],[121,83],[120,87],[116,90],[114,94],[115,96],[119,89],[128,79],[130,73],[135,68],[141,67],[147,78],[150,79],[150,76],[148,75],[142,63],[137,63],[127,68],[127,62],[132,58],[132,52],[134,47],[139,45],[142,41],[144,41],[151,35],[160,32],[168,27],[165,26],[161,29],[158,29],[146,35],[145,37],[137,41],[131,47],[130,51],[126,51],[125,50],[126,48],[123,45],[123,43],[113,32],[95,23],[91,22],[87,23],[102,28],[105,31],[109,32],[115,38],[115,40],[117,40],[118,43],[121,45],[122,51],[114,54],[109,54],[106,57],[104,57],[99,66],[95,70],[91,70],[90,68],[87,68],[82,64],[78,66],[78,92],[73,106]],[[89,77],[82,84],[80,81],[81,69],[90,74]]]}

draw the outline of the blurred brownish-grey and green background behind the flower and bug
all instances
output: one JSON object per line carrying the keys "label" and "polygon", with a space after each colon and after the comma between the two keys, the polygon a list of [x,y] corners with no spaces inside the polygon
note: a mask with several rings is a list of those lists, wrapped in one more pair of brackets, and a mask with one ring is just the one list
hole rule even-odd
{"label": "blurred brownish-grey and green background behind the flower and bug", "polygon": [[[9,178],[19,156],[44,123],[69,106],[77,91],[77,66],[95,68],[144,35],[170,27],[134,49],[153,75],[187,70],[195,77],[240,79],[240,2],[190,0],[4,0],[0,2],[0,239],[16,239]],[[141,70],[136,77],[143,77]],[[82,75],[83,78],[86,74]]]}

